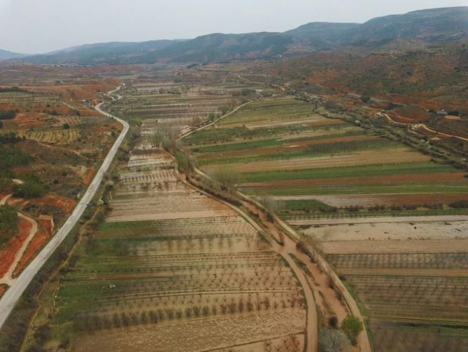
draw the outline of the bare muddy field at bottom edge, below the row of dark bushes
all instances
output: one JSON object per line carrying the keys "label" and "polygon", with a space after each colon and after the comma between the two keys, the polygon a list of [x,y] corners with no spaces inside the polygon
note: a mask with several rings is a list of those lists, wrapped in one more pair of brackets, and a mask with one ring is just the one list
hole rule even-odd
{"label": "bare muddy field at bottom edge, below the row of dark bushes", "polygon": [[[91,335],[77,339],[74,350],[202,352],[268,340],[277,337],[278,334],[294,335],[302,331],[304,319],[303,310],[297,310],[248,314],[244,317],[236,315],[199,319],[178,324],[162,324],[156,329],[152,326],[115,329],[107,331],[106,338]],[[263,352],[264,346],[253,351]]]}

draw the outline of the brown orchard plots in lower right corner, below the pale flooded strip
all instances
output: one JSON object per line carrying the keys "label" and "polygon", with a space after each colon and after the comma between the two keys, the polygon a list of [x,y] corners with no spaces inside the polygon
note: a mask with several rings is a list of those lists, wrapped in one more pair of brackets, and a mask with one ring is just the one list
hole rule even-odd
{"label": "brown orchard plots in lower right corner, below the pale flooded strip", "polygon": [[461,236],[323,242],[369,319],[376,350],[467,350],[468,241]]}

